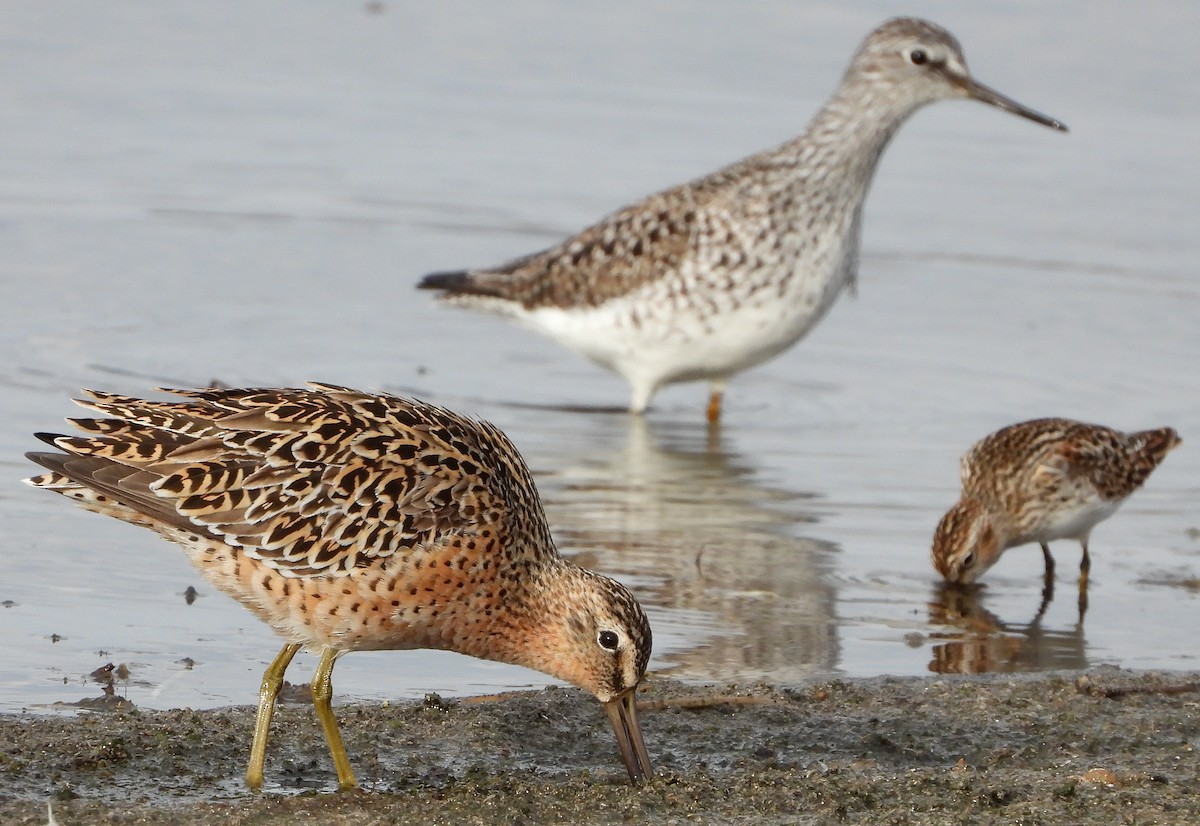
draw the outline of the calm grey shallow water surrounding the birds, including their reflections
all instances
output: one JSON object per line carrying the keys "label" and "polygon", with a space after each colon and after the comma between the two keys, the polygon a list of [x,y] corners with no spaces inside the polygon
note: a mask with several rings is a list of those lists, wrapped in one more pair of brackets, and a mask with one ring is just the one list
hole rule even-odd
{"label": "calm grey shallow water surrounding the birds, including their reflections", "polygon": [[[0,67],[0,478],[79,387],[382,387],[492,419],[565,553],[630,583],[678,677],[1196,669],[1200,10],[551,2],[10,7]],[[949,26],[986,83],[919,113],[868,206],[857,299],[730,388],[613,413],[623,383],[430,270],[546,246],[793,133],[888,16]],[[1184,34],[1188,32],[1188,34]],[[929,538],[958,457],[1037,415],[1184,445],[1078,550],[1010,551],[947,604]],[[0,485],[0,710],[101,694],[248,702],[277,641],[151,534]],[[184,593],[196,586],[199,598]],[[313,660],[292,676],[307,678]],[[536,686],[452,654],[347,658],[342,696]]]}

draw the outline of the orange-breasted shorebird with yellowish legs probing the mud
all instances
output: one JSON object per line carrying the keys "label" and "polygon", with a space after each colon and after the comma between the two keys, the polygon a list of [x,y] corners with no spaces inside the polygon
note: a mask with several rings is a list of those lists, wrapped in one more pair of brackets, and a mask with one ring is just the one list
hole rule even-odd
{"label": "orange-breasted shorebird with yellowish legs probing the mud", "polygon": [[494,426],[383,394],[90,393],[86,436],[38,433],[29,483],[184,546],[287,644],[263,675],[246,783],[263,784],[276,695],[301,646],[337,782],[356,785],[330,706],[347,651],[445,648],[545,671],[605,706],[629,777],[650,776],[635,693],[650,627],[620,583],[558,556],[516,448]]}

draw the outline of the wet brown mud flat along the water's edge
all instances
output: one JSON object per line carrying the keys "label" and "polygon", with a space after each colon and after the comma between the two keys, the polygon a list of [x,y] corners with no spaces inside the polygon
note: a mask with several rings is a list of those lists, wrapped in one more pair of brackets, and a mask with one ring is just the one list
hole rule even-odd
{"label": "wet brown mud flat along the water's edge", "polygon": [[572,689],[337,708],[362,788],[334,791],[312,708],[0,716],[0,822],[1196,824],[1200,674],[653,680],[658,777],[628,785]]}

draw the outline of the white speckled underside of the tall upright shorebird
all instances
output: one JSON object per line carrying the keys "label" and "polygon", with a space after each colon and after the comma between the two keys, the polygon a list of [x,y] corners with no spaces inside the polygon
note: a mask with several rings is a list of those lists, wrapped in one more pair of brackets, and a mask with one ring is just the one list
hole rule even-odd
{"label": "white speckled underside of the tall upright shorebird", "polygon": [[679,269],[600,306],[535,307],[478,295],[450,300],[506,316],[612,370],[642,412],[665,384],[724,382],[799,341],[857,269],[859,215],[830,220],[820,237],[785,233],[761,247],[754,226],[740,249],[754,265],[721,269],[721,246],[702,246]]}

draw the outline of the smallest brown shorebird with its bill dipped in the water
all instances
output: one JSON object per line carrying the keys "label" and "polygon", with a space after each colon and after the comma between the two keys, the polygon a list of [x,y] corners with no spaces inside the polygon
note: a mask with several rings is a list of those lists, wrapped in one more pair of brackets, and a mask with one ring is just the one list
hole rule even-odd
{"label": "smallest brown shorebird with its bill dipped in the water", "polygon": [[1034,419],[998,430],[962,456],[962,498],[934,533],[934,567],[949,582],[973,582],[1004,550],[1036,541],[1049,587],[1054,557],[1048,543],[1076,539],[1084,546],[1082,599],[1092,528],[1178,444],[1170,427],[1122,433],[1070,419]]}

